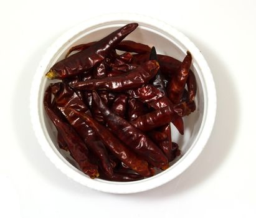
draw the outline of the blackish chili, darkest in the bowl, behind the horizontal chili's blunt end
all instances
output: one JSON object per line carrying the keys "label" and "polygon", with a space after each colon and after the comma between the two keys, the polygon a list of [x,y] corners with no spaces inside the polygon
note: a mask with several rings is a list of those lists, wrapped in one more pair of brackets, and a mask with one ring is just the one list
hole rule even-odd
{"label": "blackish chili, darkest in the bowl, behind the horizontal chili's blunt end", "polygon": [[[154,46],[150,51],[149,60],[158,60],[158,55],[156,54],[156,48]],[[151,80],[151,84],[166,95],[166,89],[164,87],[164,77],[160,69],[158,70],[156,76]]]}

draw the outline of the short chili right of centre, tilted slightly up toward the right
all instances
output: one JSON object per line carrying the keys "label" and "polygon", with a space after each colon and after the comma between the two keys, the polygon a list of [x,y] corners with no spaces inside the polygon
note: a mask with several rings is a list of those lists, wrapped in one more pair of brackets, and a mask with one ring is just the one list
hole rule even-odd
{"label": "short chili right of centre, tilted slightly up toward the right", "polygon": [[150,131],[169,124],[174,116],[174,110],[169,106],[141,115],[130,123],[142,131]]}

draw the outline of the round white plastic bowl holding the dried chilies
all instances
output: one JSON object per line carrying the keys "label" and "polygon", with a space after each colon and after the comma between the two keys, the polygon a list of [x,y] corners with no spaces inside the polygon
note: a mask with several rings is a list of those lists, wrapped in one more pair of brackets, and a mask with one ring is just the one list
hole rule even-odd
{"label": "round white plastic bowl holding the dried chilies", "polygon": [[[126,39],[154,45],[159,54],[167,54],[183,60],[186,51],[192,54],[192,66],[197,80],[197,109],[184,118],[184,136],[172,128],[173,141],[181,146],[181,156],[173,165],[155,176],[135,182],[111,182],[102,179],[90,179],[75,167],[69,156],[57,146],[56,131],[45,115],[43,97],[50,81],[45,73],[55,62],[64,58],[73,45],[95,41],[129,22],[138,22],[140,26]],[[85,186],[111,193],[133,193],[153,189],[171,181],[188,168],[199,156],[207,143],[216,115],[216,90],[211,70],[199,49],[168,24],[151,17],[137,14],[108,14],[90,19],[74,27],[61,36],[44,55],[39,64],[31,89],[31,120],[39,144],[50,161],[64,174]]]}

